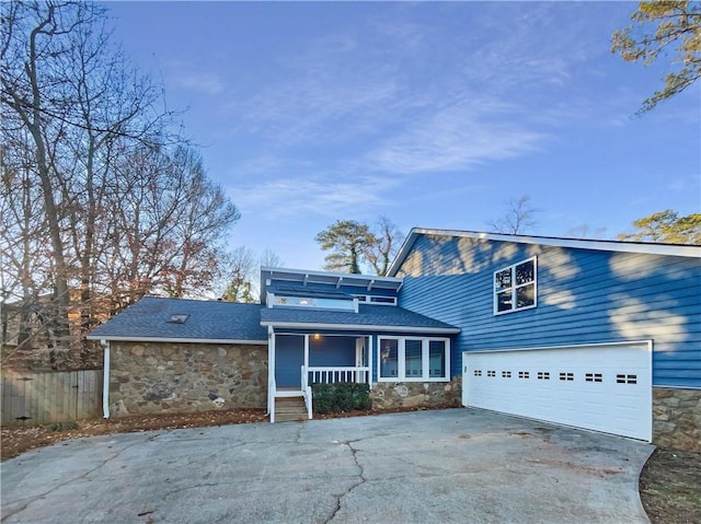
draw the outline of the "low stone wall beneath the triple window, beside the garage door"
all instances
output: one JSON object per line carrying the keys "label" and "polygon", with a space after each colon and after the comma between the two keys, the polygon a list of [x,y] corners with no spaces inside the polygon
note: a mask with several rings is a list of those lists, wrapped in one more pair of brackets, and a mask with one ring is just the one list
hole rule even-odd
{"label": "low stone wall beneath the triple window, beside the garage door", "polygon": [[451,382],[376,382],[370,398],[378,409],[459,405],[461,382],[459,376]]}

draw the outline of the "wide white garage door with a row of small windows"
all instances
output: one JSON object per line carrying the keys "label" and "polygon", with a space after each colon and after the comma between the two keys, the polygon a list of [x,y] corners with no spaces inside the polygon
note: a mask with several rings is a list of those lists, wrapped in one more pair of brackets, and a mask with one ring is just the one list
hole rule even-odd
{"label": "wide white garage door with a row of small windows", "polygon": [[652,441],[648,342],[462,353],[462,404]]}

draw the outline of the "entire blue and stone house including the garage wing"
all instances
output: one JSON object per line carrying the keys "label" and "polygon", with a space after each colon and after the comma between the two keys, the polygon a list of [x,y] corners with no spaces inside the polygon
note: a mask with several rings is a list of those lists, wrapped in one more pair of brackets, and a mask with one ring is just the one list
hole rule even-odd
{"label": "entire blue and stone house including the garage wing", "polygon": [[701,447],[701,247],[414,229],[388,277],[261,269],[260,304],[145,298],[95,329],[105,416],[361,382]]}

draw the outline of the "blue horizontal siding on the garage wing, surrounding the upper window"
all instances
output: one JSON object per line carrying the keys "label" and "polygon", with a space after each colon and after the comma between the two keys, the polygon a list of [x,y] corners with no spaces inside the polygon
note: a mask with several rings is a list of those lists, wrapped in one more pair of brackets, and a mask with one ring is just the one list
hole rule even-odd
{"label": "blue horizontal siding on the garage wing, surrounding the upper window", "polygon": [[[538,257],[538,307],[493,314],[493,272]],[[462,328],[462,351],[654,341],[653,383],[701,387],[701,260],[421,235],[400,305]]]}

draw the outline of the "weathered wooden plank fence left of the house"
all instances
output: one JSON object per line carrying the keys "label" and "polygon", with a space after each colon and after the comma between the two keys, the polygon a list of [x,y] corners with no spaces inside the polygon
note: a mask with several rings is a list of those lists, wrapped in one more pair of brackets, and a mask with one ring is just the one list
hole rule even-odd
{"label": "weathered wooden plank fence left of the house", "polygon": [[2,370],[2,426],[102,416],[102,370],[46,373]]}

